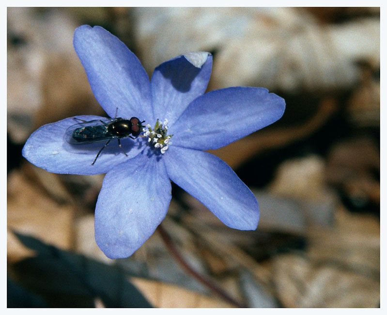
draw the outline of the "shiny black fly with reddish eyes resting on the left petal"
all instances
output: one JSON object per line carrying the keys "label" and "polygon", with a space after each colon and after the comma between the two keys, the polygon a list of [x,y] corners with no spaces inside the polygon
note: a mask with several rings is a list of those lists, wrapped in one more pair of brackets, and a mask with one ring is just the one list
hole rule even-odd
{"label": "shiny black fly with reddish eyes resting on the left petal", "polygon": [[[99,154],[112,139],[117,139],[118,145],[122,149],[120,139],[125,137],[136,139],[135,137],[139,136],[144,128],[142,123],[145,122],[145,120],[140,121],[137,117],[132,117],[130,119],[116,117],[90,121],[76,117],[74,117],[74,119],[80,122],[67,128],[65,138],[68,143],[78,145],[108,140],[108,142],[98,151],[92,165],[94,165]],[[122,150],[125,153],[124,149]],[[125,155],[127,156],[126,153]]]}

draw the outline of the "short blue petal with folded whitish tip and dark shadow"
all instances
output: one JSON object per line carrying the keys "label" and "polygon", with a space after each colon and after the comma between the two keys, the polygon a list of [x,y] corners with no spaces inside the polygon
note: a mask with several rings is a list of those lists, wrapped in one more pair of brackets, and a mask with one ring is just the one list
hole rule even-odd
{"label": "short blue petal with folded whitish tip and dark shadow", "polygon": [[192,100],[205,92],[211,68],[208,52],[182,55],[155,68],[151,80],[155,119],[167,118],[172,124]]}

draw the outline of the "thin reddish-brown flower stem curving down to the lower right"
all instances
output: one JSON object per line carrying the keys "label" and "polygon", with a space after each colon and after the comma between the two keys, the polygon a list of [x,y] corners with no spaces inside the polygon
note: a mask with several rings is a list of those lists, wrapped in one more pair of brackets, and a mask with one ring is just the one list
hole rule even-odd
{"label": "thin reddish-brown flower stem curving down to the lower right", "polygon": [[182,265],[182,267],[184,269],[186,269],[186,271],[191,276],[193,276],[199,282],[201,282],[202,284],[204,284],[205,286],[210,288],[212,291],[214,291],[221,298],[223,298],[223,299],[227,300],[228,302],[236,305],[237,307],[240,307],[240,308],[246,308],[247,307],[243,303],[241,303],[241,302],[235,300],[234,298],[232,298],[227,292],[225,292],[222,288],[220,288],[216,283],[214,283],[214,282],[204,278],[201,274],[199,274],[194,269],[192,269],[192,267],[186,263],[186,261],[184,260],[183,256],[179,253],[178,249],[173,244],[173,241],[172,241],[170,235],[168,234],[167,231],[164,230],[164,228],[161,226],[161,224],[157,227],[157,229],[158,229],[158,232],[160,233],[161,238],[163,239],[165,245],[167,246],[167,248],[175,256],[175,258],[177,259],[179,264]]}

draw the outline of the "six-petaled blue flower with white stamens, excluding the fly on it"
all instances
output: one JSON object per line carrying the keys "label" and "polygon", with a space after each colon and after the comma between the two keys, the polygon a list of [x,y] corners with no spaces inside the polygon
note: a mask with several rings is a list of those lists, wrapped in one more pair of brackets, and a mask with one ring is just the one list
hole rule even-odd
{"label": "six-petaled blue flower with white stamens, excluding the fly on it", "polygon": [[[95,240],[109,258],[130,256],[167,214],[175,182],[227,226],[255,230],[258,202],[217,149],[276,120],[285,101],[264,88],[230,87],[205,93],[212,56],[188,53],[155,68],[151,81],[139,59],[105,29],[80,26],[74,48],[94,96],[110,117],[145,120],[143,135],[81,146],[65,141],[74,117],[31,134],[23,156],[49,172],[107,173],[95,208]],[[90,121],[100,116],[77,116]],[[126,154],[124,154],[124,152]],[[238,152],[235,152],[238,154]]]}

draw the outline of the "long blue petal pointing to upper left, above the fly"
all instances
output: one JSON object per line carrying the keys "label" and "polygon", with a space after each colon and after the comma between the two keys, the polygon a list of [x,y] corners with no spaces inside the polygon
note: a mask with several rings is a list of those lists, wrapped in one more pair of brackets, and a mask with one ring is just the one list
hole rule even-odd
{"label": "long blue petal pointing to upper left, above the fly", "polygon": [[[99,26],[75,30],[74,48],[99,104],[110,117],[152,119],[149,77],[122,41]],[[153,120],[153,119],[152,119]]]}

